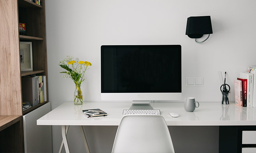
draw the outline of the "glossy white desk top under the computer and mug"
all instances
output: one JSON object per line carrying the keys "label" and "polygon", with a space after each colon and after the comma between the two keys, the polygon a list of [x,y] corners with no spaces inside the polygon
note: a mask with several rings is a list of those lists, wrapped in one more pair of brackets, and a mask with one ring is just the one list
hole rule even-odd
{"label": "glossy white desk top under the computer and mug", "polygon": [[[66,102],[37,120],[37,125],[119,125],[123,109],[129,109],[131,102],[84,102],[74,105]],[[234,103],[222,105],[217,102],[201,102],[194,112],[186,112],[183,102],[154,102],[154,109],[160,109],[167,125],[256,125],[256,107],[237,107]],[[82,110],[100,108],[108,116],[91,117]],[[168,113],[178,113],[173,118]],[[254,116],[254,117],[253,117]]]}

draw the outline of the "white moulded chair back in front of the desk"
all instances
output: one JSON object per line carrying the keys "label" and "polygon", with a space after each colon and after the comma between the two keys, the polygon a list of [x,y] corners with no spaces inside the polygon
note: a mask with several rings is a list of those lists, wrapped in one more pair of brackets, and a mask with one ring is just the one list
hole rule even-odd
{"label": "white moulded chair back in front of the desk", "polygon": [[160,115],[123,116],[112,153],[174,153],[165,119]]}

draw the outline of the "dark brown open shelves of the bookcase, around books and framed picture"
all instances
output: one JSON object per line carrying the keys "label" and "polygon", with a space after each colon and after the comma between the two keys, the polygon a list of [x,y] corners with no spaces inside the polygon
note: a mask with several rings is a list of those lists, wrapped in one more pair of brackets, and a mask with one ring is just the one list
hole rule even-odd
{"label": "dark brown open shelves of the bookcase, around books and framed picture", "polygon": [[[45,75],[47,77],[47,53],[46,53],[46,29],[45,29],[45,5],[38,5],[29,0],[18,0],[19,23],[25,23],[26,35],[19,35],[19,41],[32,42],[32,71],[21,71],[20,76]],[[22,89],[23,90],[23,89]],[[48,96],[48,86],[46,86]],[[47,101],[48,102],[48,101]],[[23,112],[23,115],[31,112],[39,106],[47,103],[40,103]]]}

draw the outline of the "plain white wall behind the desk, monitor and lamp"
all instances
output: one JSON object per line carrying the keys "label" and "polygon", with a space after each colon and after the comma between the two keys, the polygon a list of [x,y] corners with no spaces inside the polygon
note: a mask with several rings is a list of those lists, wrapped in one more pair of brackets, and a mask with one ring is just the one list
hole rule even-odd
{"label": "plain white wall behind the desk, monitor and lamp", "polygon": [[[74,83],[70,79],[63,79],[59,73],[62,69],[58,62],[66,55],[93,64],[86,73],[82,90],[85,101],[101,101],[101,45],[180,44],[183,94],[180,102],[185,97],[195,97],[199,102],[220,101],[218,71],[227,71],[226,82],[231,86],[231,101],[234,101],[233,80],[239,76],[239,72],[256,64],[254,0],[46,0],[45,4],[48,87],[52,109],[73,100]],[[213,34],[204,43],[196,44],[194,39],[185,35],[186,21],[190,16],[205,15],[211,16]],[[186,87],[186,77],[203,77],[204,86]],[[98,128],[98,131],[91,128],[88,132],[97,138],[102,130]],[[116,130],[114,127],[106,129],[112,133]],[[75,127],[70,130],[70,137],[77,135],[75,131],[79,130]],[[211,132],[217,135],[218,128]],[[54,152],[57,152],[60,142],[60,127],[54,126]],[[203,142],[203,145],[210,144]],[[97,147],[92,144],[95,152],[111,149],[109,146]],[[218,142],[212,144],[213,148],[218,147]],[[73,146],[79,148],[77,152],[83,150],[79,145]]]}

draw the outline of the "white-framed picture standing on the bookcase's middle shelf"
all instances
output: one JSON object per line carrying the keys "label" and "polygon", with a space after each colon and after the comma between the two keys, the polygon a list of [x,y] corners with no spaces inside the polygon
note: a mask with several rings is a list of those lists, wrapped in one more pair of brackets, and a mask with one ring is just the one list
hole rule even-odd
{"label": "white-framed picture standing on the bookcase's middle shelf", "polygon": [[32,71],[32,42],[19,42],[19,56],[21,71]]}

